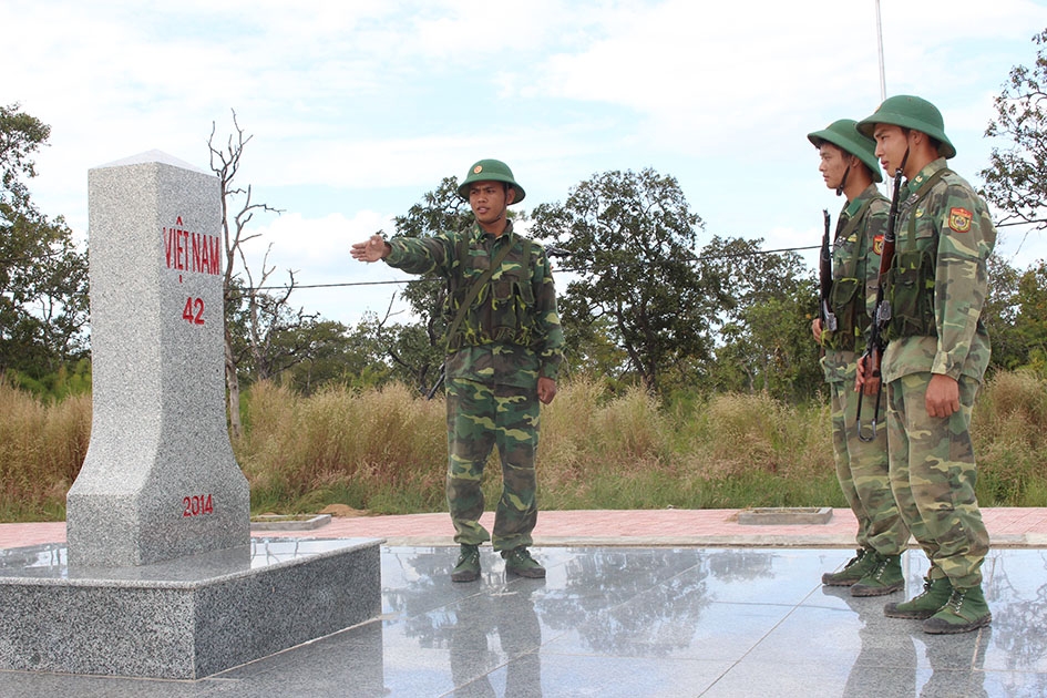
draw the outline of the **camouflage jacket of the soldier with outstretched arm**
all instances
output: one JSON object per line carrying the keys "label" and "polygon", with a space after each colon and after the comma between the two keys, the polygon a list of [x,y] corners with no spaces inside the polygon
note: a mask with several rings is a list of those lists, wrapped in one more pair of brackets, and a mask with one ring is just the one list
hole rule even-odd
{"label": "camouflage jacket of the soldier with outstretched arm", "polygon": [[462,233],[389,240],[389,266],[448,279],[449,325],[471,283],[505,245],[512,249],[470,304],[459,331],[448,338],[448,378],[519,387],[533,387],[540,376],[556,380],[564,333],[545,249],[516,235],[512,222],[499,237],[474,223]]}

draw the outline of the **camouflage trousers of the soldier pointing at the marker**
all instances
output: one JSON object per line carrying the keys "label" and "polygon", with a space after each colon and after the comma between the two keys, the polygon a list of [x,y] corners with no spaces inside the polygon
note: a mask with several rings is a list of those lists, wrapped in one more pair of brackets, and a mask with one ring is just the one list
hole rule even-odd
{"label": "camouflage trousers of the soldier pointing at the marker", "polygon": [[[538,443],[537,388],[448,380],[448,509],[454,542],[510,551],[532,543],[538,517],[534,453]],[[502,461],[502,496],[493,537],[480,524],[483,469],[494,446]]]}

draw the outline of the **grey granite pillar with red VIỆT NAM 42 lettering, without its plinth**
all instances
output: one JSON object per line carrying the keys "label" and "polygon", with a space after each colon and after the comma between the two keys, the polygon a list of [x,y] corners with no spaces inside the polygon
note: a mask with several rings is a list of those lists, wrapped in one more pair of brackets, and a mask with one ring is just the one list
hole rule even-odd
{"label": "grey granite pillar with red VI\u1ec6T NAM 42 lettering, without its plinth", "polygon": [[225,417],[218,178],[152,151],[89,172],[93,418],[71,565],[246,545]]}

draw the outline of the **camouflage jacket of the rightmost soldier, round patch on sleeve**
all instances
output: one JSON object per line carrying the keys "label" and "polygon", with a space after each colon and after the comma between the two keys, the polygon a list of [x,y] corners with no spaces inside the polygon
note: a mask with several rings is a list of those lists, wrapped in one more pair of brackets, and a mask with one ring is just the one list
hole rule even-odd
{"label": "camouflage jacket of the rightmost soldier, round patch on sleeve", "polygon": [[[945,170],[922,196],[917,191]],[[930,304],[926,335],[892,338],[883,356],[887,381],[917,372],[968,376],[981,381],[989,361],[989,338],[982,322],[988,292],[987,259],[996,245],[996,228],[985,202],[967,182],[938,158],[904,184],[899,206],[894,265],[905,253],[926,253]],[[892,300],[892,322],[905,315]]]}

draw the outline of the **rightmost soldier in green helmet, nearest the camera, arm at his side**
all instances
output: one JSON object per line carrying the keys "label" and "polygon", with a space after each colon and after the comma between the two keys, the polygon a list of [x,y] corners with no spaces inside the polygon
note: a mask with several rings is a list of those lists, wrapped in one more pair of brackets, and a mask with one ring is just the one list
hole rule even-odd
{"label": "rightmost soldier in green helmet, nearest the camera, arm at his side", "polygon": [[[988,533],[974,493],[971,410],[989,361],[982,322],[996,229],[985,202],[945,161],[956,148],[937,107],[899,95],[859,123],[886,172],[905,176],[894,260],[882,280],[891,317],[881,372],[887,384],[891,486],[931,561],[922,594],[887,604],[926,633],[966,633],[992,620],[982,593]],[[864,367],[863,367],[864,368]],[[858,372],[856,386],[864,380]]]}

